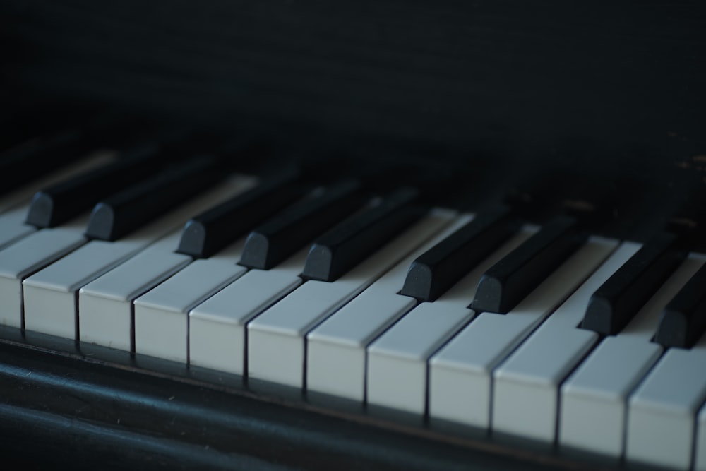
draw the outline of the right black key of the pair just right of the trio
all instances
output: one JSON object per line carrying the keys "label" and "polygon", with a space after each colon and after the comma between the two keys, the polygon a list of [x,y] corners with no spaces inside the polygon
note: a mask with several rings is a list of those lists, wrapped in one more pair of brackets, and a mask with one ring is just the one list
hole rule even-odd
{"label": "right black key of the pair just right of the trio", "polygon": [[573,217],[557,216],[489,268],[470,308],[507,314],[583,244],[587,234]]}

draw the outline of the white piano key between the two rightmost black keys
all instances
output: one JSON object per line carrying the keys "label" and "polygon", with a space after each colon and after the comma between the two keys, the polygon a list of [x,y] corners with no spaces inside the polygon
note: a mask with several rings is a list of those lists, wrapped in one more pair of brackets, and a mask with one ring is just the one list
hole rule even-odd
{"label": "white piano key between the two rightmost black keys", "polygon": [[702,263],[688,258],[633,321],[606,337],[561,387],[562,446],[614,458],[623,454],[628,395],[662,354],[662,346],[650,342],[659,316]]}

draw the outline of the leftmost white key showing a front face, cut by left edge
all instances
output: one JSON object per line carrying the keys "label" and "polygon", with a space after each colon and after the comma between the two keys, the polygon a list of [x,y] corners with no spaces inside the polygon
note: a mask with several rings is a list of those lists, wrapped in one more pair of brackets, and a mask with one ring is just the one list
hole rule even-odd
{"label": "leftmost white key showing a front face, cut by left edge", "polygon": [[49,265],[82,246],[88,216],[56,229],[33,232],[16,244],[0,251],[0,298],[3,299],[0,323],[23,327],[22,281],[31,273]]}

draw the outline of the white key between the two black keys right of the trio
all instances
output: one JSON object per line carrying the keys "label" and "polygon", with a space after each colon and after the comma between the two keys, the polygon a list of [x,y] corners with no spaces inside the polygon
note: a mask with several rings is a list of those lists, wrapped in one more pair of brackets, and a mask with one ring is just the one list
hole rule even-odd
{"label": "white key between the two black keys right of the trio", "polygon": [[424,415],[427,360],[475,315],[468,306],[483,273],[534,232],[534,226],[520,229],[438,299],[419,304],[371,343],[367,349],[369,404]]}

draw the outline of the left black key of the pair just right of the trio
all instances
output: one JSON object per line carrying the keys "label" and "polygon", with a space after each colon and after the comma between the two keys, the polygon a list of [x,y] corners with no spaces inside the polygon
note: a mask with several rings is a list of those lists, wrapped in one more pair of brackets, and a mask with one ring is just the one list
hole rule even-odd
{"label": "left black key of the pair just right of the trio", "polygon": [[507,208],[478,215],[412,262],[400,294],[434,301],[518,226],[519,220]]}

